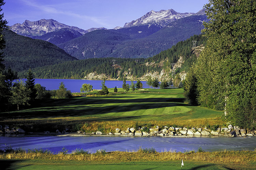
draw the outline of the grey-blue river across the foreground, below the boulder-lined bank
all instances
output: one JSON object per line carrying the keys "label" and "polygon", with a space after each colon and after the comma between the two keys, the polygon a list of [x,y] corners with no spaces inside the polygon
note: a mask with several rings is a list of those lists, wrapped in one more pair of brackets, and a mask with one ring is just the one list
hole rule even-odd
{"label": "grey-blue river across the foreground, below the boulder-lined bank", "polygon": [[110,151],[136,151],[142,148],[155,148],[157,152],[184,152],[197,150],[202,147],[205,151],[220,150],[254,150],[256,136],[252,137],[223,137],[208,136],[194,138],[163,138],[163,137],[0,137],[0,149],[5,144],[13,148],[23,149],[43,148],[57,153],[65,147],[71,152],[76,148],[96,152],[99,149]]}

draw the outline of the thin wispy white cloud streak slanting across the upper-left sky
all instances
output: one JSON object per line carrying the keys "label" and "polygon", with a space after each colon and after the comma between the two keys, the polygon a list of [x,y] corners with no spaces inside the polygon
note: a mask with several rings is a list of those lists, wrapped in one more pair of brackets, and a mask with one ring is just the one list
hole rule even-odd
{"label": "thin wispy white cloud streak slanting across the upper-left sky", "polygon": [[100,25],[104,26],[104,27],[109,27],[109,24],[102,21],[102,19],[104,19],[104,18],[81,15],[81,14],[74,13],[72,11],[63,12],[62,10],[56,9],[52,5],[39,5],[39,4],[37,4],[37,3],[35,3],[31,0],[22,0],[22,1],[24,3],[26,3],[27,5],[36,7],[39,10],[41,10],[43,12],[46,12],[46,13],[68,15],[68,16],[72,16],[72,17],[76,17],[76,18],[81,18],[83,20],[91,20],[91,21],[93,21],[97,24],[100,24]]}

